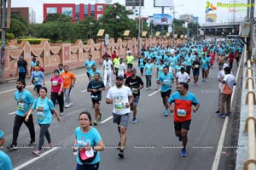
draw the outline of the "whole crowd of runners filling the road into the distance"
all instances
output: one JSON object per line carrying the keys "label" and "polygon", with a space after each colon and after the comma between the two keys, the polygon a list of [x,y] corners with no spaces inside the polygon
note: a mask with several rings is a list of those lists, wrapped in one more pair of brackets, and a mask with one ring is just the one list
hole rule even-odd
{"label": "whole crowd of runners filling the road into the distance", "polygon": [[[233,86],[236,85],[235,77],[232,75],[234,60],[238,66],[243,43],[238,40],[225,41],[195,41],[179,44],[177,47],[143,48],[138,59],[132,56],[130,49],[124,57],[113,54],[104,54],[103,71],[97,70],[97,64],[93,56],[84,62],[84,68],[88,77],[87,92],[95,110],[94,116],[89,112],[79,115],[79,127],[75,129],[73,152],[77,154],[77,169],[98,169],[100,155],[98,151],[104,150],[104,144],[100,133],[92,125],[97,126],[101,122],[102,111],[100,103],[102,99],[109,105],[113,105],[113,122],[118,126],[119,139],[117,149],[118,156],[123,158],[125,143],[127,139],[127,127],[129,117],[132,114],[132,123],[137,123],[137,105],[140,90],[160,91],[160,97],[164,105],[163,116],[173,113],[174,130],[177,139],[182,142],[181,156],[186,157],[187,133],[191,122],[191,112],[197,111],[200,102],[195,94],[189,92],[189,84],[198,86],[199,83],[207,83],[211,68],[218,65],[218,117],[230,116],[230,98]],[[137,64],[134,62],[137,60]],[[68,70],[68,65],[59,65],[50,78],[51,88],[44,87],[44,67],[32,59],[31,72],[23,56],[17,62],[17,75],[15,101],[17,110],[13,127],[13,140],[7,147],[9,150],[17,150],[17,139],[20,127],[25,123],[30,133],[29,145],[36,144],[35,128],[32,111],[36,110],[38,125],[38,148],[32,153],[41,156],[41,150],[50,149],[53,144],[50,138],[49,125],[52,116],[58,121],[64,116],[65,108],[73,106],[70,97],[76,82],[76,76]],[[29,83],[34,85],[34,92],[26,90],[26,76],[30,75]],[[113,77],[114,85],[113,85]],[[152,77],[157,81],[152,82]],[[192,80],[191,80],[192,79]],[[153,84],[155,89],[152,89]],[[172,88],[177,88],[172,93]],[[102,91],[108,89],[107,96],[102,96]],[[50,93],[50,98],[46,94]],[[185,102],[184,102],[185,101]],[[55,105],[59,105],[59,110]],[[226,105],[226,106],[225,106]],[[226,108],[226,109],[225,109]],[[1,134],[1,133],[0,133]],[[3,133],[2,133],[3,134]],[[44,136],[48,144],[44,144]],[[1,138],[1,136],[0,136]]]}

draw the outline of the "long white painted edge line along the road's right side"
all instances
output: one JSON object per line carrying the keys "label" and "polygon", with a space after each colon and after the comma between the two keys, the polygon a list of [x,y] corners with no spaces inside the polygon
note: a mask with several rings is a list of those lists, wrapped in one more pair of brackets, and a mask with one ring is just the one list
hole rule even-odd
{"label": "long white painted edge line along the road's right side", "polygon": [[[236,72],[236,82],[237,82],[237,78],[238,78],[238,73],[240,71],[241,60],[242,59],[240,59],[239,67],[238,67],[238,70]],[[235,91],[236,91],[236,86],[233,89],[233,92],[235,92]],[[234,94],[235,93],[233,93],[232,96],[231,96],[231,104],[230,105],[233,104]],[[227,131],[228,123],[229,123],[229,116],[226,116],[225,121],[224,121],[224,125],[223,125],[222,130],[221,130],[221,134],[220,134],[220,137],[219,137],[218,148],[217,148],[217,151],[216,151],[216,154],[215,154],[215,157],[214,157],[214,161],[213,161],[213,164],[212,164],[212,170],[218,170],[218,164],[219,164],[219,160],[220,160],[221,153],[222,153],[222,148],[223,148],[223,144],[224,144],[225,133]]]}

